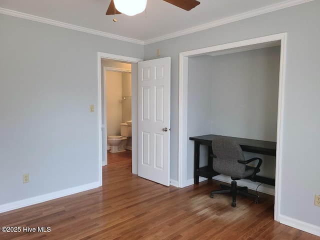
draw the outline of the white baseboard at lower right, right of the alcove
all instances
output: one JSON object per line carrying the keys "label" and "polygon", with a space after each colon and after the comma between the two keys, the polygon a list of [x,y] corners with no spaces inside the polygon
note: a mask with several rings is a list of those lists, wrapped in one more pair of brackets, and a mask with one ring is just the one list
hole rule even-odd
{"label": "white baseboard at lower right, right of the alcove", "polygon": [[285,216],[282,214],[279,214],[279,222],[284,225],[291,226],[296,229],[309,232],[313,235],[320,236],[320,226],[313,225],[313,224],[307,223],[305,221],[300,221],[295,218]]}

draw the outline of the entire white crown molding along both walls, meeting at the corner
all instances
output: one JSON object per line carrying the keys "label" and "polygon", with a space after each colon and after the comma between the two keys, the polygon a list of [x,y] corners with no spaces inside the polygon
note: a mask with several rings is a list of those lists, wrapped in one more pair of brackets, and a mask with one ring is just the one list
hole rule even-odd
{"label": "entire white crown molding along both walls, meeting at the corner", "polygon": [[186,34],[189,34],[189,33],[205,30],[205,29],[212,28],[212,27],[215,27],[215,26],[220,26],[220,25],[227,24],[227,23],[230,23],[230,22],[242,20],[242,19],[245,19],[245,18],[261,15],[261,14],[268,13],[268,12],[271,12],[271,11],[280,10],[280,9],[283,9],[283,8],[287,8],[287,7],[290,7],[290,6],[302,4],[302,3],[305,3],[305,2],[309,2],[309,1],[313,1],[313,0],[287,0],[287,1],[276,3],[276,4],[273,4],[273,5],[270,5],[270,6],[261,7],[261,8],[252,10],[252,11],[247,11],[247,12],[244,12],[244,13],[241,13],[241,14],[238,14],[238,15],[226,17],[226,18],[223,18],[223,19],[219,19],[219,20],[216,20],[216,21],[208,22],[208,23],[205,23],[205,24],[202,24],[202,25],[198,25],[198,26],[195,26],[195,27],[187,28],[187,29],[184,29],[184,30],[181,30],[181,31],[176,31],[174,33],[170,33],[170,34],[162,35],[162,36],[159,36],[159,37],[154,37],[154,38],[151,38],[151,39],[147,39],[145,41],[138,40],[138,39],[133,39],[133,38],[128,38],[128,37],[124,37],[124,36],[119,36],[119,35],[103,32],[103,31],[98,31],[98,30],[94,30],[94,29],[90,29],[90,28],[85,28],[85,27],[82,27],[82,26],[72,25],[72,24],[69,24],[69,23],[64,23],[64,22],[51,20],[51,19],[44,18],[44,17],[34,16],[34,15],[31,15],[31,14],[18,12],[18,11],[13,11],[13,10],[6,9],[6,8],[1,8],[1,7],[0,7],[0,14],[15,16],[15,17],[19,17],[19,18],[23,18],[23,19],[27,19],[27,20],[31,20],[31,21],[42,22],[42,23],[49,24],[49,25],[64,27],[64,28],[71,29],[71,30],[86,32],[86,33],[90,33],[90,34],[94,34],[94,35],[98,35],[98,36],[103,36],[103,37],[108,37],[108,38],[113,38],[113,39],[117,39],[117,40],[121,40],[121,41],[127,41],[127,42],[136,43],[136,44],[140,44],[140,45],[146,45],[146,44],[150,44],[150,43],[154,43],[154,42],[170,39],[170,38],[173,38],[173,37],[182,36],[182,35],[186,35]]}

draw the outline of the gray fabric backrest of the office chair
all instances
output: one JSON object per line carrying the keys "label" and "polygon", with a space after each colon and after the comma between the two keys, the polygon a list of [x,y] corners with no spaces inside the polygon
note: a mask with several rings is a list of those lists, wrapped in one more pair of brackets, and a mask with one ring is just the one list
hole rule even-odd
{"label": "gray fabric backrest of the office chair", "polygon": [[245,164],[237,160],[245,160],[240,145],[225,137],[218,137],[212,140],[213,170],[227,176],[241,175],[245,171]]}

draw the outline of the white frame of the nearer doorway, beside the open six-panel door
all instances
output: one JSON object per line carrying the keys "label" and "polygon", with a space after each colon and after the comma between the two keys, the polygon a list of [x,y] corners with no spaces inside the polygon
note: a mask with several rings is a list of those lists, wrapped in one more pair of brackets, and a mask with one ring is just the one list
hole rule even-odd
{"label": "white frame of the nearer doorway, beside the open six-panel door", "polygon": [[[130,57],[130,56],[121,56],[121,55],[115,55],[105,52],[97,52],[97,95],[98,95],[98,177],[99,177],[99,186],[102,185],[102,106],[101,106],[101,59],[110,59],[115,61],[124,61],[127,63],[137,63],[139,61],[142,61],[143,59]],[[134,74],[137,77],[137,69],[131,69],[132,71],[132,139],[137,138],[137,110],[134,107],[137,107],[137,82],[133,82]],[[136,72],[135,72],[136,71]],[[133,111],[136,110],[136,112]],[[136,118],[136,119],[135,119]],[[137,141],[134,142],[132,140],[132,173],[137,174],[137,147],[136,147]]]}

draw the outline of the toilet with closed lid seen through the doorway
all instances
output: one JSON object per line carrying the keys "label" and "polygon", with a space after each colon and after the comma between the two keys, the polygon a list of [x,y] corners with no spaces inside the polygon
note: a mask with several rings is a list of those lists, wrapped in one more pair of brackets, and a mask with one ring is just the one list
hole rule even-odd
{"label": "toilet with closed lid seen through the doorway", "polygon": [[127,123],[120,123],[120,134],[108,136],[107,142],[111,146],[110,152],[125,151],[125,145],[128,137],[131,137],[131,126]]}

